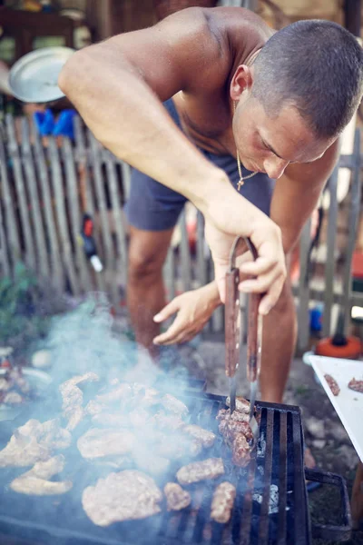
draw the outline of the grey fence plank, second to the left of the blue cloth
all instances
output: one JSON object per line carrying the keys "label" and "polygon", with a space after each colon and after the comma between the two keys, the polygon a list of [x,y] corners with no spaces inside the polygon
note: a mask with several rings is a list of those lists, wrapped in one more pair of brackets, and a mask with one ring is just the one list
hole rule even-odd
{"label": "grey fence plank, second to the left of the blue cloth", "polygon": [[40,195],[34,171],[32,148],[30,145],[29,125],[26,117],[22,119],[22,162],[24,165],[25,180],[28,187],[30,210],[33,216],[34,240],[37,249],[37,270],[43,279],[49,278],[50,266],[48,263],[48,249],[44,236],[44,223],[40,208]]}

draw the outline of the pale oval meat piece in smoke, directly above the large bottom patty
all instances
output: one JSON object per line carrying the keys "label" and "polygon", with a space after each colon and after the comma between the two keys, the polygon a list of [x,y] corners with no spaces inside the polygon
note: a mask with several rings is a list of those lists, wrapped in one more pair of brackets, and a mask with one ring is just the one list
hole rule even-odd
{"label": "pale oval meat piece in smoke, directly above the large bottom patty", "polygon": [[85,459],[123,456],[132,451],[134,435],[128,431],[101,430],[93,428],[86,431],[77,441],[78,450]]}

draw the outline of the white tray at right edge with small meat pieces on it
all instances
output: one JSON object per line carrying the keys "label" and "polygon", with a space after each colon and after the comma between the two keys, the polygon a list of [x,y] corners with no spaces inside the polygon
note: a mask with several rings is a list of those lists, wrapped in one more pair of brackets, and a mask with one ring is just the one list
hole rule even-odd
{"label": "white tray at right edge with small meat pieces on it", "polygon": [[[363,393],[348,388],[351,379],[363,380],[363,362],[315,355],[310,355],[309,361],[363,461]],[[331,375],[338,382],[340,391],[337,396],[330,390],[325,374]]]}

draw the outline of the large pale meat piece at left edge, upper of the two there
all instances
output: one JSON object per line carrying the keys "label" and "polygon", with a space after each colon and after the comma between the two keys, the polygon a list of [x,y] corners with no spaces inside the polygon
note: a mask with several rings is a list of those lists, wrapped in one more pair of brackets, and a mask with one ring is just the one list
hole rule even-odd
{"label": "large pale meat piece at left edge, upper of the two there", "polygon": [[52,451],[63,450],[71,444],[71,434],[58,421],[31,419],[15,430],[5,449],[0,451],[0,467],[26,467],[36,461],[46,461]]}

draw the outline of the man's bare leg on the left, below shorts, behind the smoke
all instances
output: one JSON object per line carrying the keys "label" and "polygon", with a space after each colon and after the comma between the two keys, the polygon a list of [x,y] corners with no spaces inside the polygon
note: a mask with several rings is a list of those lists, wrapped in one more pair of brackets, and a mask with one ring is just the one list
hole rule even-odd
{"label": "man's bare leg on the left, below shorts, behind the smoke", "polygon": [[152,318],[165,305],[162,265],[172,231],[142,231],[130,226],[127,305],[136,341],[152,357],[157,356],[157,347],[152,344],[152,339],[160,328]]}

